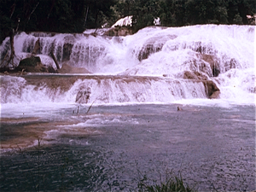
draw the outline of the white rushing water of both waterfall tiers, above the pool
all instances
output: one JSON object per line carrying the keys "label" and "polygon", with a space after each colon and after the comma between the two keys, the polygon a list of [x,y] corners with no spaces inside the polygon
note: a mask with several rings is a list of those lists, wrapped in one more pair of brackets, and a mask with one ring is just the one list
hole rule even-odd
{"label": "white rushing water of both waterfall tiers, above the pool", "polygon": [[[15,36],[16,65],[39,40],[38,56],[45,66],[55,67],[49,56],[53,50],[61,66],[84,67],[93,74],[86,79],[75,76],[67,89],[45,83],[43,76],[41,84],[29,83],[25,77],[1,76],[1,103],[74,103],[82,86],[91,89],[89,103],[206,100],[202,81],[184,78],[189,72],[217,84],[218,101],[252,104],[256,94],[254,38],[255,26],[147,27],[126,37],[20,32]],[[8,47],[7,38],[0,47],[1,60]]]}

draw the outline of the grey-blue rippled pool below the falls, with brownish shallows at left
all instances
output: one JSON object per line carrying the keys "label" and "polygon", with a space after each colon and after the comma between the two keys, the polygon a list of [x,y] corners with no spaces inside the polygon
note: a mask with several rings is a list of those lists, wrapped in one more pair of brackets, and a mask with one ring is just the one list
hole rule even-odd
{"label": "grey-blue rippled pool below the falls, with brownish shallows at left", "polygon": [[255,189],[253,106],[76,108],[2,117],[1,191],[129,191],[166,170],[200,191]]}

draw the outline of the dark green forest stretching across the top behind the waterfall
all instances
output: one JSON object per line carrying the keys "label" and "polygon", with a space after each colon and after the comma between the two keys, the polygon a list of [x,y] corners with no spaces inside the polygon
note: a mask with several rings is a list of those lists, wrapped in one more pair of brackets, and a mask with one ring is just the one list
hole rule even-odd
{"label": "dark green forest stretching across the top behind the waterfall", "polygon": [[256,0],[1,0],[0,42],[15,29],[31,32],[84,32],[133,15],[134,32],[152,26],[247,25]]}

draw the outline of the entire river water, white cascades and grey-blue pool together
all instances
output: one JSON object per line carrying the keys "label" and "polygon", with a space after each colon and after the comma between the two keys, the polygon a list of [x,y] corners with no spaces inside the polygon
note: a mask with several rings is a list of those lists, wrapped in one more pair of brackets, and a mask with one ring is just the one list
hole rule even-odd
{"label": "entire river water, white cascades and grey-blue pool together", "polygon": [[39,44],[45,67],[53,52],[90,74],[0,75],[1,191],[136,191],[171,173],[199,191],[256,189],[255,26],[85,33],[15,36],[15,66]]}

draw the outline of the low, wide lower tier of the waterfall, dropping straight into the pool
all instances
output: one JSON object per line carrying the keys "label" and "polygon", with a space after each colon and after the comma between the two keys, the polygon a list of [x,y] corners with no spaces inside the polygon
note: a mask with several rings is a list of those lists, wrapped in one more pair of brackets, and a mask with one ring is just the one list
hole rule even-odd
{"label": "low, wide lower tier of the waterfall, dropping straight into the pool", "polygon": [[[42,80],[43,79],[43,80]],[[58,79],[58,80],[57,80]],[[53,83],[53,81],[59,81]],[[73,83],[74,82],[74,83]],[[204,84],[152,77],[3,77],[1,103],[75,102],[82,87],[90,87],[89,102],[174,102],[178,99],[206,98]],[[11,89],[9,89],[11,87]]]}

